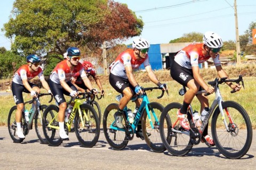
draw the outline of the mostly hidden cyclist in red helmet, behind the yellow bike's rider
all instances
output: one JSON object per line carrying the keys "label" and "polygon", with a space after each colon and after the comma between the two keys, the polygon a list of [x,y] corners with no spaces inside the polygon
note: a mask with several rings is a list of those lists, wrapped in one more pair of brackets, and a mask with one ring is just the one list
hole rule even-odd
{"label": "mostly hidden cyclist in red helmet, behind the yellow bike's rider", "polygon": [[[87,77],[89,78],[90,76],[95,80],[97,86],[100,89],[101,95],[104,95],[104,90],[102,88],[102,84],[101,81],[96,73],[96,71],[93,69],[93,65],[90,62],[84,61],[82,63],[83,67],[84,67],[84,71],[86,72]],[[85,92],[85,90],[87,90],[88,88],[85,86],[81,75],[79,72],[77,72],[73,78],[71,79],[71,82],[76,86],[76,88],[79,91]]]}

